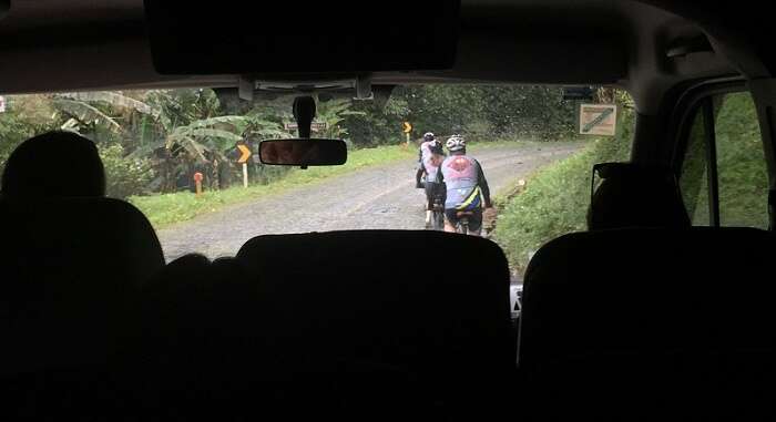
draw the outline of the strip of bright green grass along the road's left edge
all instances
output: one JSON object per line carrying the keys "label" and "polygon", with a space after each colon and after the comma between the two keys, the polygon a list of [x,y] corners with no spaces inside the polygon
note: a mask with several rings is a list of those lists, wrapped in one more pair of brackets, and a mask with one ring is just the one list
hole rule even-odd
{"label": "strip of bright green grass along the road's left edge", "polygon": [[223,191],[206,191],[200,197],[190,192],[132,196],[130,203],[149,218],[154,228],[160,229],[175,223],[185,222],[203,214],[217,212],[225,206],[273,195],[286,189],[319,183],[358,169],[417,157],[417,150],[401,146],[380,146],[348,152],[348,162],[341,166],[293,168],[288,173],[266,184],[233,186]]}

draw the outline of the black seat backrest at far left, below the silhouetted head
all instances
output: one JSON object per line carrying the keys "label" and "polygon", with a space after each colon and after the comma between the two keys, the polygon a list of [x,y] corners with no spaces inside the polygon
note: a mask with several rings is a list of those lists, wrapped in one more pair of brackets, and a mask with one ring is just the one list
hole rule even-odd
{"label": "black seat backrest at far left, below the silhouetted head", "polygon": [[140,285],[164,266],[143,214],[109,198],[3,197],[0,225],[0,373],[108,357]]}

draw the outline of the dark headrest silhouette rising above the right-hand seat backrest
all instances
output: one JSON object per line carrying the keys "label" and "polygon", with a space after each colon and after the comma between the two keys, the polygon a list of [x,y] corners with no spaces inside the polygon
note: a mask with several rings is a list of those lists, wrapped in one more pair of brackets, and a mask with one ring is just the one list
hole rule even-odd
{"label": "dark headrest silhouette rising above the right-hand seat backrest", "polygon": [[626,227],[688,227],[687,212],[673,173],[633,163],[593,167],[603,182],[591,197],[590,230]]}

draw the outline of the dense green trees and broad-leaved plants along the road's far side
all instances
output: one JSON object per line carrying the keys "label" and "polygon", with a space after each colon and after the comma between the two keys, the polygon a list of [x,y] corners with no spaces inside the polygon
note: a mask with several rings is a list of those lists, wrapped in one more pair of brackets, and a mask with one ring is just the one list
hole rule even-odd
{"label": "dense green trees and broad-leaved plants along the road's far side", "polygon": [[[192,189],[195,172],[205,188],[238,183],[235,144],[293,136],[290,97],[254,103],[223,101],[213,90],[58,93],[9,97],[0,114],[0,166],[23,140],[70,130],[93,140],[106,159],[109,193],[118,197]],[[573,136],[574,104],[559,88],[417,85],[394,90],[387,102],[318,99],[315,135],[343,137],[355,147],[400,144],[401,123],[413,140],[425,132],[466,133],[472,141],[560,140]],[[249,163],[252,183],[287,172]]]}

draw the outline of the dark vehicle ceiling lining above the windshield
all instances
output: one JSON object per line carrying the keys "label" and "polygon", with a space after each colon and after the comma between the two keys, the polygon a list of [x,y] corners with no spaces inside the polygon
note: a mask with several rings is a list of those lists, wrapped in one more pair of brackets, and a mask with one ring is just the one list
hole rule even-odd
{"label": "dark vehicle ceiling lining above the windshield", "polygon": [[[631,92],[640,113],[653,114],[663,94],[683,81],[772,73],[776,54],[766,43],[774,30],[760,24],[767,6],[746,3],[463,0],[453,69],[379,72],[372,83],[617,85]],[[704,35],[713,51],[667,56],[670,48]],[[218,88],[238,80],[157,74],[142,0],[14,0],[0,21],[0,93]]]}

